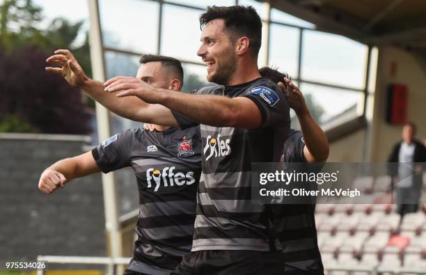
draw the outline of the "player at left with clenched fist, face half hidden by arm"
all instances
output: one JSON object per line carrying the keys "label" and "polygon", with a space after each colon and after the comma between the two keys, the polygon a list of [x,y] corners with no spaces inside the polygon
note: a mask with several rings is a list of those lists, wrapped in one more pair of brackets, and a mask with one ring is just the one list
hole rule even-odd
{"label": "player at left with clenched fist, face half hidden by arm", "polygon": [[[61,53],[73,58],[70,52]],[[77,61],[72,61],[79,68]],[[143,55],[140,63],[137,79],[170,93],[182,88],[183,70],[177,59]],[[66,65],[47,70],[62,74],[70,84],[79,81]],[[38,184],[41,191],[50,194],[74,178],[127,166],[134,169],[139,191],[138,239],[125,275],[168,275],[191,250],[201,173],[200,127],[155,128],[155,132],[129,129],[91,152],[62,159],[42,173]]]}

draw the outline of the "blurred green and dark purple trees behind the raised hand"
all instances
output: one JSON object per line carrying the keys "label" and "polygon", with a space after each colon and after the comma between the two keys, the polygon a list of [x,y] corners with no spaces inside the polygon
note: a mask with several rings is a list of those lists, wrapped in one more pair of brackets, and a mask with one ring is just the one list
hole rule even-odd
{"label": "blurred green and dark purple trees behind the raised hand", "polygon": [[[84,22],[56,18],[42,29],[42,18],[42,8],[33,0],[0,2],[0,132],[85,134],[88,115],[81,111],[86,107],[77,89],[44,70],[44,60],[54,50],[70,49],[91,77],[88,34],[82,45],[76,45]],[[73,125],[73,118],[81,119],[79,125],[84,127]],[[63,123],[68,127],[59,125]]]}

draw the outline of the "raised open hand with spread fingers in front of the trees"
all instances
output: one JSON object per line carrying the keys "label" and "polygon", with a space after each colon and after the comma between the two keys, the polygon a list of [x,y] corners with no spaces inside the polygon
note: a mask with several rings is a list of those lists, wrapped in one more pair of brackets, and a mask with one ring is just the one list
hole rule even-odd
{"label": "raised open hand with spread fingers in front of the trees", "polygon": [[68,49],[57,49],[53,56],[46,59],[47,63],[53,63],[59,67],[46,67],[47,72],[62,75],[71,86],[81,87],[88,79],[77,59]]}

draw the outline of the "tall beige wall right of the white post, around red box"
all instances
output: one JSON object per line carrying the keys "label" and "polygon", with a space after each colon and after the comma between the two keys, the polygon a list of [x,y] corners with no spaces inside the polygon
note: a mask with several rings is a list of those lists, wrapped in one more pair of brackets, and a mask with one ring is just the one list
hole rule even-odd
{"label": "tall beige wall right of the white post, around red box", "polygon": [[[391,72],[391,63],[396,64]],[[426,139],[426,73],[416,58],[400,49],[379,49],[377,86],[372,122],[372,162],[384,162],[393,144],[401,139],[402,126],[386,123],[386,88],[388,84],[406,84],[409,88],[408,119],[418,125],[418,138]]]}

